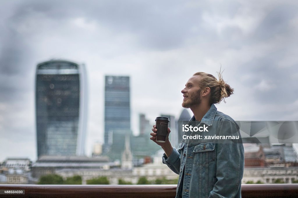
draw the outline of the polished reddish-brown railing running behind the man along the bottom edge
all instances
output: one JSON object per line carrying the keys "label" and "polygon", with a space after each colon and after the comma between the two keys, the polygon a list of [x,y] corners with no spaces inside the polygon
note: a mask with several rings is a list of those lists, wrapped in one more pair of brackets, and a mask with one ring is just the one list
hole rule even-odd
{"label": "polished reddish-brown railing running behind the man along the bottom edge", "polygon": [[[243,184],[243,198],[298,197],[298,184]],[[0,197],[175,197],[176,185],[18,185],[0,184],[0,190],[25,194]]]}

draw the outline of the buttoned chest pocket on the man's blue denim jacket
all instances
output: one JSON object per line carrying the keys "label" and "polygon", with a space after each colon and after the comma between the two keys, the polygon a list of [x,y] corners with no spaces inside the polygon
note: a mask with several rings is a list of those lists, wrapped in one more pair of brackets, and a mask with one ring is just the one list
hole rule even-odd
{"label": "buttoned chest pocket on the man's blue denim jacket", "polygon": [[216,158],[215,142],[202,142],[193,149],[193,164],[205,165]]}

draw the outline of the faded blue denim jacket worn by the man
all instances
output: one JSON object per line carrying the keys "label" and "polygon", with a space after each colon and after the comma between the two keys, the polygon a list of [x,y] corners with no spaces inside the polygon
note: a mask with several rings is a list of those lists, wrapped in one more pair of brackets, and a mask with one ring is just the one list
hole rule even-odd
{"label": "faded blue denim jacket worn by the man", "polygon": [[[190,121],[195,121],[195,117]],[[202,135],[202,139],[183,139],[168,158],[165,154],[162,157],[163,163],[179,174],[176,197],[241,197],[244,149],[239,126],[217,111],[214,104],[199,125],[208,125],[208,132],[192,132]],[[238,142],[204,139],[231,134],[239,136]]]}

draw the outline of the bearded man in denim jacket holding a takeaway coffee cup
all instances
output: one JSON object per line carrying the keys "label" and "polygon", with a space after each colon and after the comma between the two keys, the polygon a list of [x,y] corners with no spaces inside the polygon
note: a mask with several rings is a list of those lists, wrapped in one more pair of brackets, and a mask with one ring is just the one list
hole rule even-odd
{"label": "bearded man in denim jacket holding a takeaway coffee cup", "polygon": [[[177,149],[172,147],[168,136],[164,143],[155,141],[156,125],[150,133],[150,139],[164,150],[163,163],[179,174],[177,198],[241,197],[244,150],[239,126],[214,105],[234,90],[224,82],[221,73],[218,76],[219,80],[211,74],[195,73],[181,91],[182,106],[193,112],[189,125],[201,126],[203,132],[185,132]],[[186,138],[194,135],[201,135],[201,138]]]}

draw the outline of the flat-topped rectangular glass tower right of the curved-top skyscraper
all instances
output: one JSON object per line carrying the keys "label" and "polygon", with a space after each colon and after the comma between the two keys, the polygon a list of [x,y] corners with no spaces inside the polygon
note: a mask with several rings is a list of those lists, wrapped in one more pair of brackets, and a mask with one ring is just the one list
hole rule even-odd
{"label": "flat-topped rectangular glass tower right of the curved-top skyscraper", "polygon": [[129,76],[105,76],[105,152],[114,144],[113,130],[130,130]]}

